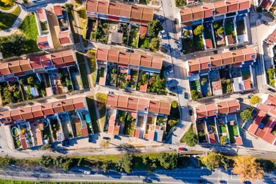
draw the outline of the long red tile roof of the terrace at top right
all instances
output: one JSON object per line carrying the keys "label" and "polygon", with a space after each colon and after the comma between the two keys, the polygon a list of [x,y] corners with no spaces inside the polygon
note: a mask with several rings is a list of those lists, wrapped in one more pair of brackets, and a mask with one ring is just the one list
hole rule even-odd
{"label": "long red tile roof of the terrace at top right", "polygon": [[219,14],[237,12],[250,8],[250,0],[226,0],[215,1],[213,3],[204,3],[204,5],[184,7],[180,10],[181,23],[198,20],[207,17],[213,17]]}

